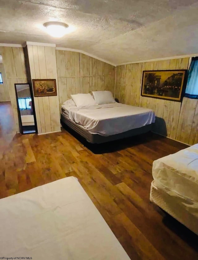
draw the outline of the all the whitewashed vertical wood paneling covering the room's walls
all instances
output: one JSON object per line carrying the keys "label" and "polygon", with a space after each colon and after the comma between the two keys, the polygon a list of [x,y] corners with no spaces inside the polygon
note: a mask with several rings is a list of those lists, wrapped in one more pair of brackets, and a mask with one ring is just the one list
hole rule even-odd
{"label": "all the whitewashed vertical wood paneling covering the room's walls", "polygon": [[[19,132],[15,83],[28,83],[23,48],[2,47],[4,82],[11,100],[15,131]],[[115,67],[87,55],[55,50],[55,47],[28,45],[32,79],[55,78],[59,93],[55,97],[34,98],[38,133],[60,131],[59,105],[71,94],[93,90],[110,90],[114,94]],[[156,113],[155,132],[178,141],[198,143],[198,100],[183,98],[180,102],[142,97],[142,71],[187,69],[188,58],[117,66],[115,97],[124,104],[151,108]],[[58,77],[57,77],[58,73]],[[1,93],[2,94],[2,93]]]}

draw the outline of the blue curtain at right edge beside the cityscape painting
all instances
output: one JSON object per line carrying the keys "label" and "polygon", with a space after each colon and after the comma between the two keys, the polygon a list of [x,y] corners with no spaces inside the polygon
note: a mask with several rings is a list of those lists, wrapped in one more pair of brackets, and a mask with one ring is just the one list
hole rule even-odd
{"label": "blue curtain at right edge beside the cityscape painting", "polygon": [[198,99],[198,60],[197,59],[192,60],[190,65],[185,97],[191,99]]}

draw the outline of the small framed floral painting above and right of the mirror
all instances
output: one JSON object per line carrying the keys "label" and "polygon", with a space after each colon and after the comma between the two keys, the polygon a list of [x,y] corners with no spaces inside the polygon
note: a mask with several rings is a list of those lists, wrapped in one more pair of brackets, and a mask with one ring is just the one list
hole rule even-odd
{"label": "small framed floral painting above and right of the mirror", "polygon": [[57,96],[55,79],[32,79],[35,97]]}

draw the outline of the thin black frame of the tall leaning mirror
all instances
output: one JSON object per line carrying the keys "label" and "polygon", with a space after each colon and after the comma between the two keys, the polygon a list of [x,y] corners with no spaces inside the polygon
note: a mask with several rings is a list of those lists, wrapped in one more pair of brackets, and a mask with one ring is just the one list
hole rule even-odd
{"label": "thin black frame of the tall leaning mirror", "polygon": [[35,133],[31,133],[31,134],[38,134],[37,119],[36,119],[36,112],[35,112],[35,106],[34,106],[34,95],[33,95],[33,91],[32,91],[32,86],[29,83],[15,83],[16,105],[17,105],[17,112],[18,112],[18,118],[19,118],[19,131],[20,131],[21,134],[30,134],[30,133],[24,133],[23,132],[23,126],[22,126],[22,121],[21,121],[21,113],[20,113],[20,109],[19,109],[18,95],[17,95],[17,89],[16,89],[17,85],[29,85],[30,96],[31,96],[31,99],[32,99],[34,126],[35,126]]}

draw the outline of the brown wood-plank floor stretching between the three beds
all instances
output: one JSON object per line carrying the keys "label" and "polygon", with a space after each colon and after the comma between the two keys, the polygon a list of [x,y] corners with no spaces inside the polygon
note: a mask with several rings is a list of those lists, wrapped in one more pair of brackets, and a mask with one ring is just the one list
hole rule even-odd
{"label": "brown wood-plank floor stretching between the three beds", "polygon": [[16,135],[0,163],[0,197],[75,176],[131,259],[198,259],[198,237],[149,201],[153,160],[186,145],[152,133],[97,146],[75,137]]}

